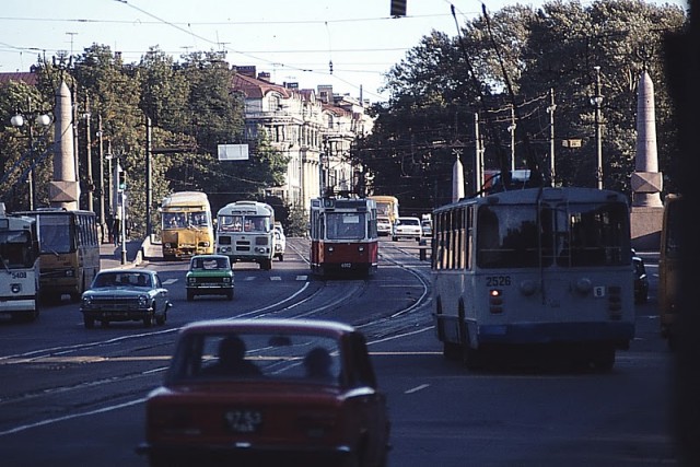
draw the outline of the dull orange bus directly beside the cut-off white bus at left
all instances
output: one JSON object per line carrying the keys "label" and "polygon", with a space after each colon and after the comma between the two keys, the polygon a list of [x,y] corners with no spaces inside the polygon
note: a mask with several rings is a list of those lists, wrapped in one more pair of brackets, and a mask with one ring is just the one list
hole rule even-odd
{"label": "dull orange bus directly beside the cut-off white bus at left", "polygon": [[42,299],[80,301],[100,271],[97,220],[92,211],[39,208],[16,212],[36,220]]}

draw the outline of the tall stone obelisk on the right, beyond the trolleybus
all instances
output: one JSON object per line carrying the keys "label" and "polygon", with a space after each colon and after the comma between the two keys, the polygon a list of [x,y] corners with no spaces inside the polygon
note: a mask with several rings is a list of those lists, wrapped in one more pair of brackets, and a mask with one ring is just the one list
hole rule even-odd
{"label": "tall stone obelisk on the right, beyond the trolleybus", "polygon": [[632,246],[657,250],[661,241],[661,221],[664,213],[661,201],[663,176],[658,172],[656,152],[656,113],[654,84],[646,70],[639,79],[637,96],[637,154],[631,177]]}

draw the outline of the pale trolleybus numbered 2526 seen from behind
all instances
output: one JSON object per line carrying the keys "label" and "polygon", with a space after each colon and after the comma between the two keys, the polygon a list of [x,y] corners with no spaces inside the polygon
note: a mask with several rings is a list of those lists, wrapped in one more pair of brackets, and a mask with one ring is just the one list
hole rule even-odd
{"label": "pale trolleybus numbered 2526 seen from behind", "polygon": [[634,337],[619,192],[545,187],[463,199],[433,211],[432,248],[436,337],[467,367],[529,349],[605,372]]}

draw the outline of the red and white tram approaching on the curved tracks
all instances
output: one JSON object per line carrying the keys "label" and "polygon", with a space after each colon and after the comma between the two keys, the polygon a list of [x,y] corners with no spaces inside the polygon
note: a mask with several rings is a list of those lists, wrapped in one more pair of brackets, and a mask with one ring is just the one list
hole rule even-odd
{"label": "red and white tram approaching on the curved tracks", "polygon": [[376,271],[378,234],[373,199],[315,198],[310,218],[314,275],[368,277]]}

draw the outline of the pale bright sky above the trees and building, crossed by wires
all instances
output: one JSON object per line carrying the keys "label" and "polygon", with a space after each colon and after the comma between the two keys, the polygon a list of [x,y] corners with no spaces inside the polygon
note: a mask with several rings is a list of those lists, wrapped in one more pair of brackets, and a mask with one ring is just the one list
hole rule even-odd
{"label": "pale bright sky above the trees and building, crossed by wires", "polygon": [[[687,8],[686,0],[655,3]],[[139,62],[151,48],[179,61],[191,51],[225,50],[230,65],[256,66],[278,84],[332,85],[335,93],[386,101],[384,73],[433,30],[459,24],[512,0],[21,0],[0,11],[0,72],[28,71],[37,56],[80,55],[93,44]],[[540,1],[521,1],[537,8]],[[583,4],[590,3],[582,1]],[[332,68],[330,66],[332,63]]]}

